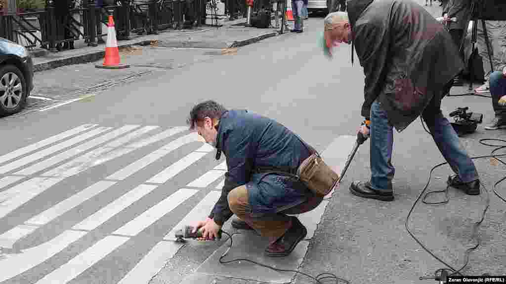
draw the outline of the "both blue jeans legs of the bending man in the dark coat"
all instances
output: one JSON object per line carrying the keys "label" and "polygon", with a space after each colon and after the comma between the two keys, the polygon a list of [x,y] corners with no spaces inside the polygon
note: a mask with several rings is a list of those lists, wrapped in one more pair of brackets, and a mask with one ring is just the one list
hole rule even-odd
{"label": "both blue jeans legs of the bending man in the dark coat", "polygon": [[[473,160],[460,144],[450,122],[441,113],[441,101],[433,99],[422,113],[422,118],[429,127],[439,151],[460,180],[471,182],[478,179]],[[387,113],[377,101],[371,105],[370,128],[371,186],[377,191],[392,191],[392,179],[395,174],[392,165],[394,133],[392,125],[388,122]]]}

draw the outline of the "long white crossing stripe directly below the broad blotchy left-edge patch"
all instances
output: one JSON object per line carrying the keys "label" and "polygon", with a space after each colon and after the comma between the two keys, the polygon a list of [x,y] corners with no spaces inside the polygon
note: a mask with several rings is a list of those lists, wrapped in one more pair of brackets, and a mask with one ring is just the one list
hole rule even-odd
{"label": "long white crossing stripe directly below the broad blotchy left-edge patch", "polygon": [[26,221],[25,224],[18,225],[4,232],[0,235],[0,246],[3,248],[12,248],[18,240],[29,235],[38,227],[51,222],[70,209],[107,190],[107,188],[111,187],[115,183],[116,182],[113,181],[101,180],[91,186],[88,186],[85,190],[82,190],[81,192],[56,204],[55,206],[48,208],[46,211],[38,214],[37,216],[32,217]]}

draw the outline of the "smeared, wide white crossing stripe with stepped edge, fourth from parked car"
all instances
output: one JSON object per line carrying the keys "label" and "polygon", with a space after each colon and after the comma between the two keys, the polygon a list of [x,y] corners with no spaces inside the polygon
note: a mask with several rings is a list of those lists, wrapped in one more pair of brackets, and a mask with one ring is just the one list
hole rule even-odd
{"label": "smeared, wide white crossing stripe with stepped edge, fourth from parked car", "polygon": [[[107,145],[97,148],[84,155],[78,156],[71,161],[60,165],[50,171],[47,171],[41,175],[43,176],[72,176],[79,172],[85,171],[91,167],[100,165],[114,158],[123,156],[135,150],[135,148],[128,149],[114,149],[123,144],[129,143],[130,141],[146,134],[147,132],[156,129],[158,126],[146,126],[136,131],[130,132],[125,136],[113,140]],[[108,152],[108,153],[107,153]],[[106,154],[104,154],[106,153]]]}

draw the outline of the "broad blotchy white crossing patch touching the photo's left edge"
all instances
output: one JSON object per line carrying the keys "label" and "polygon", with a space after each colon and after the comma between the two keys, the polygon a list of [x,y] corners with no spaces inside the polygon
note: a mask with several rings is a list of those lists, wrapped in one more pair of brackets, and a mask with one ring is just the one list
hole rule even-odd
{"label": "broad blotchy white crossing patch touching the photo's left edge", "polygon": [[5,217],[61,180],[62,178],[34,177],[0,192],[0,218]]}

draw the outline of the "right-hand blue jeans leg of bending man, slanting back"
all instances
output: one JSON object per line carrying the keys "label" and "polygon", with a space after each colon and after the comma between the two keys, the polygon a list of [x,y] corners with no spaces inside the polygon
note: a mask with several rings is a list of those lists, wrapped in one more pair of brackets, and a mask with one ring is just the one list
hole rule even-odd
{"label": "right-hand blue jeans leg of bending man, slanting back", "polygon": [[422,117],[439,151],[460,180],[471,182],[478,179],[478,171],[473,160],[468,156],[457,133],[441,112],[441,100],[433,99],[422,113]]}

